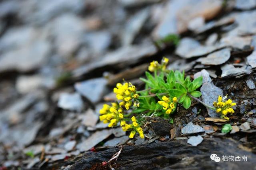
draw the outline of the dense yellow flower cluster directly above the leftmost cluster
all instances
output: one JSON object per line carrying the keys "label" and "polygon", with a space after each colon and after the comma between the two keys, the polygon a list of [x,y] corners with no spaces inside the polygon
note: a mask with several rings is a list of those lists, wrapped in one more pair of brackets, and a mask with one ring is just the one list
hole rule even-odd
{"label": "dense yellow flower cluster directly above the leftmost cluster", "polygon": [[[132,85],[132,83],[116,84],[114,93],[116,94],[116,98],[118,100],[122,100],[119,105],[124,106],[126,110],[132,106],[132,99],[138,99],[139,97],[139,95],[136,94],[136,88]],[[138,101],[135,101],[133,106],[139,107],[140,104]]]}

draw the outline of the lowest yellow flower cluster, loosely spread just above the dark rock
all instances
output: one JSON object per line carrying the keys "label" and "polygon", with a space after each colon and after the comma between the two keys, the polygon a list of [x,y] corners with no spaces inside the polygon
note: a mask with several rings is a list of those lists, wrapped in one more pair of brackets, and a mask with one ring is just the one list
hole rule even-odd
{"label": "lowest yellow flower cluster, loosely spread just above the dark rock", "polygon": [[126,124],[125,121],[121,121],[121,127],[123,131],[132,130],[129,135],[130,138],[133,138],[136,132],[139,133],[140,138],[144,138],[143,129],[140,127],[140,124],[137,123],[137,120],[134,116],[132,117],[132,124]]}

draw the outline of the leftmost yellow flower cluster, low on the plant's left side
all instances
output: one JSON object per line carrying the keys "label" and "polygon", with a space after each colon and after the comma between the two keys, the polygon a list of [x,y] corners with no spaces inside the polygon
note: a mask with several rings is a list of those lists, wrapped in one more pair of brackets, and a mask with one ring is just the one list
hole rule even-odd
{"label": "leftmost yellow flower cluster, low on the plant's left side", "polygon": [[117,103],[112,103],[112,106],[104,104],[100,109],[100,121],[109,123],[108,127],[114,127],[119,121],[124,118],[124,111]]}

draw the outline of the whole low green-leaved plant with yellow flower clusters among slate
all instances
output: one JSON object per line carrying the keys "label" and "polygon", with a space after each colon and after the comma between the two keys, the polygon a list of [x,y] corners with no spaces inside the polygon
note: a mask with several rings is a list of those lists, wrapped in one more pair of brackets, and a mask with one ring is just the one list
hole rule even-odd
{"label": "whole low green-leaved plant with yellow flower clusters among slate", "polygon": [[177,106],[188,109],[191,106],[191,100],[196,100],[204,106],[216,110],[224,119],[229,119],[227,113],[234,113],[231,108],[236,105],[232,100],[226,100],[221,96],[218,102],[209,106],[199,100],[201,92],[197,89],[202,85],[202,76],[191,81],[190,76],[186,76],[178,70],[166,70],[168,59],[163,58],[161,63],[152,61],[146,77],[140,78],[145,82],[145,88],[138,91],[130,82],[118,83],[114,88],[117,102],[110,105],[104,104],[100,110],[100,121],[109,123],[108,127],[115,127],[120,123],[123,131],[131,131],[130,138],[133,138],[136,132],[141,138],[144,138],[143,125],[146,116],[157,116],[168,119],[173,123],[171,115],[176,112]]}

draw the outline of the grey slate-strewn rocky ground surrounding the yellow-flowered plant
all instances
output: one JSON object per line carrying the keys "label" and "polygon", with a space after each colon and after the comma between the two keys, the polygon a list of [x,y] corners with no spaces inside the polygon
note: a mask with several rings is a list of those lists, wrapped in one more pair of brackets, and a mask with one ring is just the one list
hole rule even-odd
{"label": "grey slate-strewn rocky ground surrounding the yellow-flowered plant", "polygon": [[[255,49],[254,0],[0,0],[0,170],[253,170]],[[145,139],[101,123],[115,84],[140,90],[163,56],[167,69],[203,76],[206,104],[228,94],[230,121],[193,101],[173,124],[150,119]]]}

